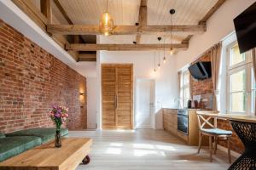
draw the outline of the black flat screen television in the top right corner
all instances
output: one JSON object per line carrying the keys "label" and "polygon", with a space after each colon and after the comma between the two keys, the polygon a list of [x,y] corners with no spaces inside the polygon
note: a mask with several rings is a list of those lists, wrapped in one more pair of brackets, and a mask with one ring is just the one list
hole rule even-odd
{"label": "black flat screen television in the top right corner", "polygon": [[256,47],[256,2],[234,19],[240,53]]}

